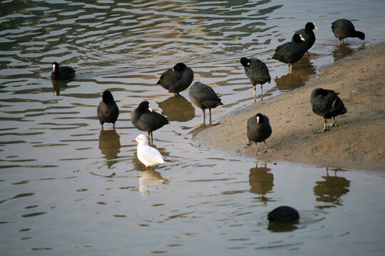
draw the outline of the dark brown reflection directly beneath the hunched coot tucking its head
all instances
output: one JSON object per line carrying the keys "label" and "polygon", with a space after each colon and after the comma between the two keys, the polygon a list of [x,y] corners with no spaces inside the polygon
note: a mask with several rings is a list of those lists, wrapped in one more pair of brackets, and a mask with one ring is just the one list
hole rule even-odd
{"label": "dark brown reflection directly beneath the hunched coot tucking its head", "polygon": [[171,96],[157,103],[169,122],[187,122],[195,117],[195,108],[182,95]]}

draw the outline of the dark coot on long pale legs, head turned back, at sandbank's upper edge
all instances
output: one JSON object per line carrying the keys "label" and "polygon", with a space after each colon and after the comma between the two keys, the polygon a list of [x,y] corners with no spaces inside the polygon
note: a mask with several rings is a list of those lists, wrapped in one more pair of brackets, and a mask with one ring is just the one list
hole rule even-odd
{"label": "dark coot on long pale legs, head turned back, at sandbank's upper edge", "polygon": [[254,102],[255,102],[255,86],[257,84],[261,85],[261,100],[262,100],[262,85],[265,82],[270,83],[270,73],[269,69],[267,68],[267,65],[257,58],[245,58],[242,57],[240,59],[240,63],[243,65],[243,68],[245,68],[245,74],[247,75],[247,78],[250,79],[250,82],[252,82],[252,86],[254,87]]}

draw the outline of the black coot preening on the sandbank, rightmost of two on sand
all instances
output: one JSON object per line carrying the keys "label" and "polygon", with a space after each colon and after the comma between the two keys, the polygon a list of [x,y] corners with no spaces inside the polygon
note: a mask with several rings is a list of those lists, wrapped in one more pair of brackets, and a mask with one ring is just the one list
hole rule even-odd
{"label": "black coot preening on the sandbank, rightmost of two on sand", "polygon": [[332,118],[332,126],[335,126],[335,117],[347,112],[344,103],[337,95],[339,95],[339,93],[334,92],[334,90],[325,90],[322,88],[317,88],[312,91],[310,103],[312,103],[313,112],[324,117],[324,126],[317,132],[325,132],[327,130],[327,119]]}

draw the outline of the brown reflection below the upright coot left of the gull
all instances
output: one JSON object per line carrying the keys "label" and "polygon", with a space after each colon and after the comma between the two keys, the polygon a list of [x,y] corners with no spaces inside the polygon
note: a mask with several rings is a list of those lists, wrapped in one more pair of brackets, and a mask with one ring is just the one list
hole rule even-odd
{"label": "brown reflection below the upright coot left of the gull", "polygon": [[101,153],[106,158],[108,168],[111,168],[113,164],[116,164],[118,161],[111,159],[116,159],[120,152],[120,138],[115,129],[112,130],[101,130],[99,134],[99,149]]}

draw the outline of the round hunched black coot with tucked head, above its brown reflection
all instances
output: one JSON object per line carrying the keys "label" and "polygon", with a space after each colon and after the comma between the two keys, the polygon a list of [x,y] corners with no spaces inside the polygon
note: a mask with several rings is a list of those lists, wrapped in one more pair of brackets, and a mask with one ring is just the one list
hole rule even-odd
{"label": "round hunched black coot with tucked head, above its brown reflection", "polygon": [[157,85],[161,85],[174,95],[186,90],[194,79],[194,72],[184,63],[177,63],[173,68],[160,75]]}

